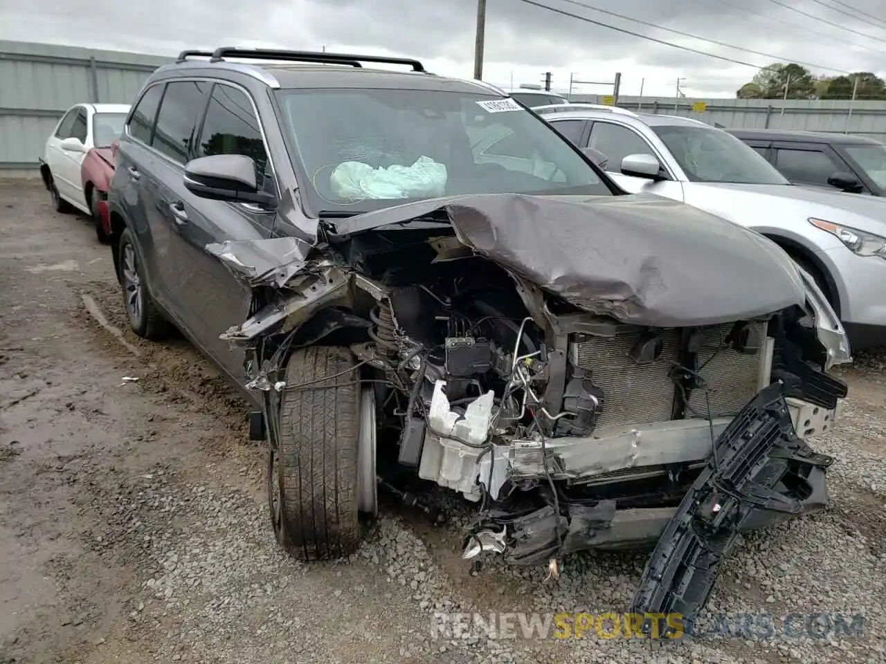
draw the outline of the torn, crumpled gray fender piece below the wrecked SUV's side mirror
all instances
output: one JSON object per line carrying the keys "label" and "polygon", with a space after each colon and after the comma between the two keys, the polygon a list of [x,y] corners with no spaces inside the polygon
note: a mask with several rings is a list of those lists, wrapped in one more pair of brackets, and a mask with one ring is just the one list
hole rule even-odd
{"label": "torn, crumpled gray fender piece below the wrecked SUV's side mirror", "polygon": [[291,236],[206,245],[206,251],[220,259],[237,281],[250,287],[280,288],[305,267],[310,250],[310,244]]}

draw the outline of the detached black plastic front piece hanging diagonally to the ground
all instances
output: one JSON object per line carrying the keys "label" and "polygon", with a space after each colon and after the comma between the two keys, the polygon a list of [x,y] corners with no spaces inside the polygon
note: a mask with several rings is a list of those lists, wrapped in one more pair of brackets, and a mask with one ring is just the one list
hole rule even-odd
{"label": "detached black plastic front piece hanging diagonally to the ground", "polygon": [[797,437],[781,383],[760,391],[714,449],[665,527],[633,598],[633,614],[646,616],[644,629],[658,621],[658,634],[668,631],[669,614],[671,624],[677,618],[691,631],[740,531],[823,506],[815,503],[827,495],[824,471],[834,459]]}

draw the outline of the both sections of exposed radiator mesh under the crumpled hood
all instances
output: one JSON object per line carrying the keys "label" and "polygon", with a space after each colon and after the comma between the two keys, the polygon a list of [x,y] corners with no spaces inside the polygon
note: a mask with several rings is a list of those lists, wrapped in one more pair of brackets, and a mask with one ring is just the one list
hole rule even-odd
{"label": "both sections of exposed radiator mesh under the crumpled hood", "polygon": [[[765,333],[763,326],[766,323],[758,324]],[[703,349],[698,361],[707,364],[699,373],[711,388],[711,414],[714,417],[738,413],[758,391],[762,365],[759,353],[742,355],[724,346],[713,355],[732,326],[727,323],[703,330]],[[578,367],[589,370],[595,385],[603,390],[603,412],[597,427],[649,424],[671,419],[676,387],[668,374],[679,359],[679,333],[676,329],[664,330],[659,358],[638,365],[630,353],[641,334],[641,331],[630,329],[614,337],[588,336],[573,344],[573,361]],[[702,390],[693,390],[689,406],[697,415],[687,413],[687,417],[707,417]]]}

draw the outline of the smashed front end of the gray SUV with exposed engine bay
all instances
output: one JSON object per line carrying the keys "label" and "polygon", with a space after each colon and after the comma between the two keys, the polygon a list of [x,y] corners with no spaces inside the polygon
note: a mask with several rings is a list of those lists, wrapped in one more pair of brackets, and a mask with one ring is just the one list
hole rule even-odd
{"label": "smashed front end of the gray SUV with exposed engine bay", "polygon": [[292,349],[360,360],[365,511],[377,477],[411,476],[478,503],[465,558],[553,570],[657,542],[634,608],[691,619],[737,533],[826,504],[803,438],[833,426],[849,348],[765,238],[642,196],[439,199],[327,231],[207,250],[253,288],[223,337],[272,439]]}

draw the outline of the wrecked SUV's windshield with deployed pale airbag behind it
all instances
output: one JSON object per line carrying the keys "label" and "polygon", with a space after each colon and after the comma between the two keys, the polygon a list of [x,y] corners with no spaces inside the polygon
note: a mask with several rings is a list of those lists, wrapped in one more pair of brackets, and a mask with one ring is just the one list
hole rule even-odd
{"label": "wrecked SUV's windshield with deployed pale airbag behind it", "polygon": [[277,95],[315,211],[462,194],[611,195],[585,158],[512,99],[402,89]]}

